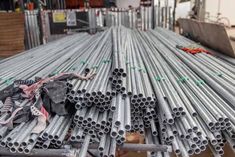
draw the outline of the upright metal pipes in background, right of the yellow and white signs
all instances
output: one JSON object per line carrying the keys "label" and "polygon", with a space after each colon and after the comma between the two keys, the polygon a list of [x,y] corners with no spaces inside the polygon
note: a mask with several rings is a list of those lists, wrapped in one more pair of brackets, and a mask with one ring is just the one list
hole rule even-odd
{"label": "upright metal pipes in background, right of the yellow and white signs", "polygon": [[[138,9],[112,8],[95,9],[99,14],[96,19],[98,26],[125,26],[127,28],[149,30],[155,27],[173,29],[173,15],[171,7],[140,6]],[[100,25],[101,24],[101,25]]]}

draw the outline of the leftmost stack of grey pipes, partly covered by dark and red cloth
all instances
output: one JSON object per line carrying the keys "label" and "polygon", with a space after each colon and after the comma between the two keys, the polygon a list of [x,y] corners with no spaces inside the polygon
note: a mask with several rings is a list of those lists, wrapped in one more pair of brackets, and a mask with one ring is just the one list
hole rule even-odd
{"label": "leftmost stack of grey pipes, partly covered by dark and red cloth", "polygon": [[[103,35],[107,36],[108,33],[103,33]],[[90,36],[81,33],[69,36],[1,61],[1,90],[14,83],[15,80],[33,80],[35,76],[45,78],[61,72],[74,73],[76,70],[76,73],[82,73],[83,71],[80,71],[79,68],[85,69],[88,66],[83,61],[89,60],[93,53],[93,51],[88,53],[87,47],[97,47],[103,35]],[[69,88],[69,82],[67,84]],[[1,103],[1,111],[5,105],[9,106],[7,100],[3,104]],[[34,105],[29,99],[22,101],[12,97],[10,101],[14,101],[15,107]],[[66,101],[61,103],[66,103]],[[11,111],[1,113],[1,121],[6,120],[9,114]],[[8,129],[6,125],[2,125],[0,128],[1,146],[9,148],[12,153],[24,152],[26,154],[30,153],[34,147],[59,148],[64,142],[68,130],[72,128],[71,117],[73,115],[51,116],[49,125],[40,134],[32,133],[37,124],[36,118],[16,125],[12,130]]]}

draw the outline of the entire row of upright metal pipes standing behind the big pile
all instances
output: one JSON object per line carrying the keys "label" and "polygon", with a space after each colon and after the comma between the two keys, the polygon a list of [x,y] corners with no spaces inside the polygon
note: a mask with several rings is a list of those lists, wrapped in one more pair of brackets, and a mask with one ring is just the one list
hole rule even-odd
{"label": "entire row of upright metal pipes standing behind the big pile", "polygon": [[[38,10],[25,11],[25,48],[31,49],[51,40],[59,39],[65,34],[51,34],[50,25],[54,23],[50,14],[61,12],[67,14],[71,10],[57,9],[39,12]],[[72,11],[84,12],[84,10],[73,9]],[[91,34],[106,27],[125,26],[131,29],[149,30],[155,27],[173,29],[173,14],[168,6],[141,6],[140,8],[89,8],[86,9],[87,20],[77,19],[87,23],[88,28],[78,28],[79,31],[88,31]],[[41,26],[41,27],[40,27]],[[71,31],[78,31],[73,30]]]}

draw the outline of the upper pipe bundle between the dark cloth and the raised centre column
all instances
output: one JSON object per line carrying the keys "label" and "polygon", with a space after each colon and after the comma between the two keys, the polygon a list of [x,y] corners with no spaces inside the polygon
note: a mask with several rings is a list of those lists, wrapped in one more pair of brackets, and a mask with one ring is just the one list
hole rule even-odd
{"label": "upper pipe bundle between the dark cloth and the raised centre column", "polygon": [[[93,80],[81,81],[73,79],[68,82],[70,92],[68,99],[72,103],[76,103],[75,107],[80,109],[82,107],[96,106],[101,111],[108,110],[111,104],[111,87],[108,84],[109,71],[111,69],[111,31],[103,33],[103,40],[96,46],[89,47],[85,50],[86,57],[82,58],[82,64],[75,72],[85,71],[86,75],[96,74]],[[100,41],[98,41],[100,42]],[[88,53],[88,54],[87,54]],[[90,57],[90,55],[92,55]],[[102,78],[103,77],[103,78]]]}

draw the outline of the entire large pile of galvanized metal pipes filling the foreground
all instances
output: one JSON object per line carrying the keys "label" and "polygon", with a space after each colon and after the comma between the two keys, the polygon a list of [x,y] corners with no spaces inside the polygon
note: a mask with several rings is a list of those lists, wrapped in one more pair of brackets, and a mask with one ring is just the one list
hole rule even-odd
{"label": "entire large pile of galvanized metal pipes filling the foreground", "polygon": [[[74,105],[73,115],[50,116],[38,134],[32,134],[36,119],[12,130],[2,125],[1,145],[11,152],[30,153],[33,148],[79,142],[78,153],[84,157],[95,143],[101,156],[115,156],[127,132],[139,132],[150,156],[169,155],[152,149],[159,144],[172,145],[182,156],[199,154],[207,145],[215,155],[223,154],[226,141],[235,147],[234,65],[211,54],[187,54],[176,46],[189,44],[192,41],[160,28],[142,32],[112,27],[93,36],[69,36],[1,61],[1,90],[15,79],[95,74],[93,79],[67,81],[67,95],[60,103]],[[12,100],[18,106],[34,105],[28,99]]]}

